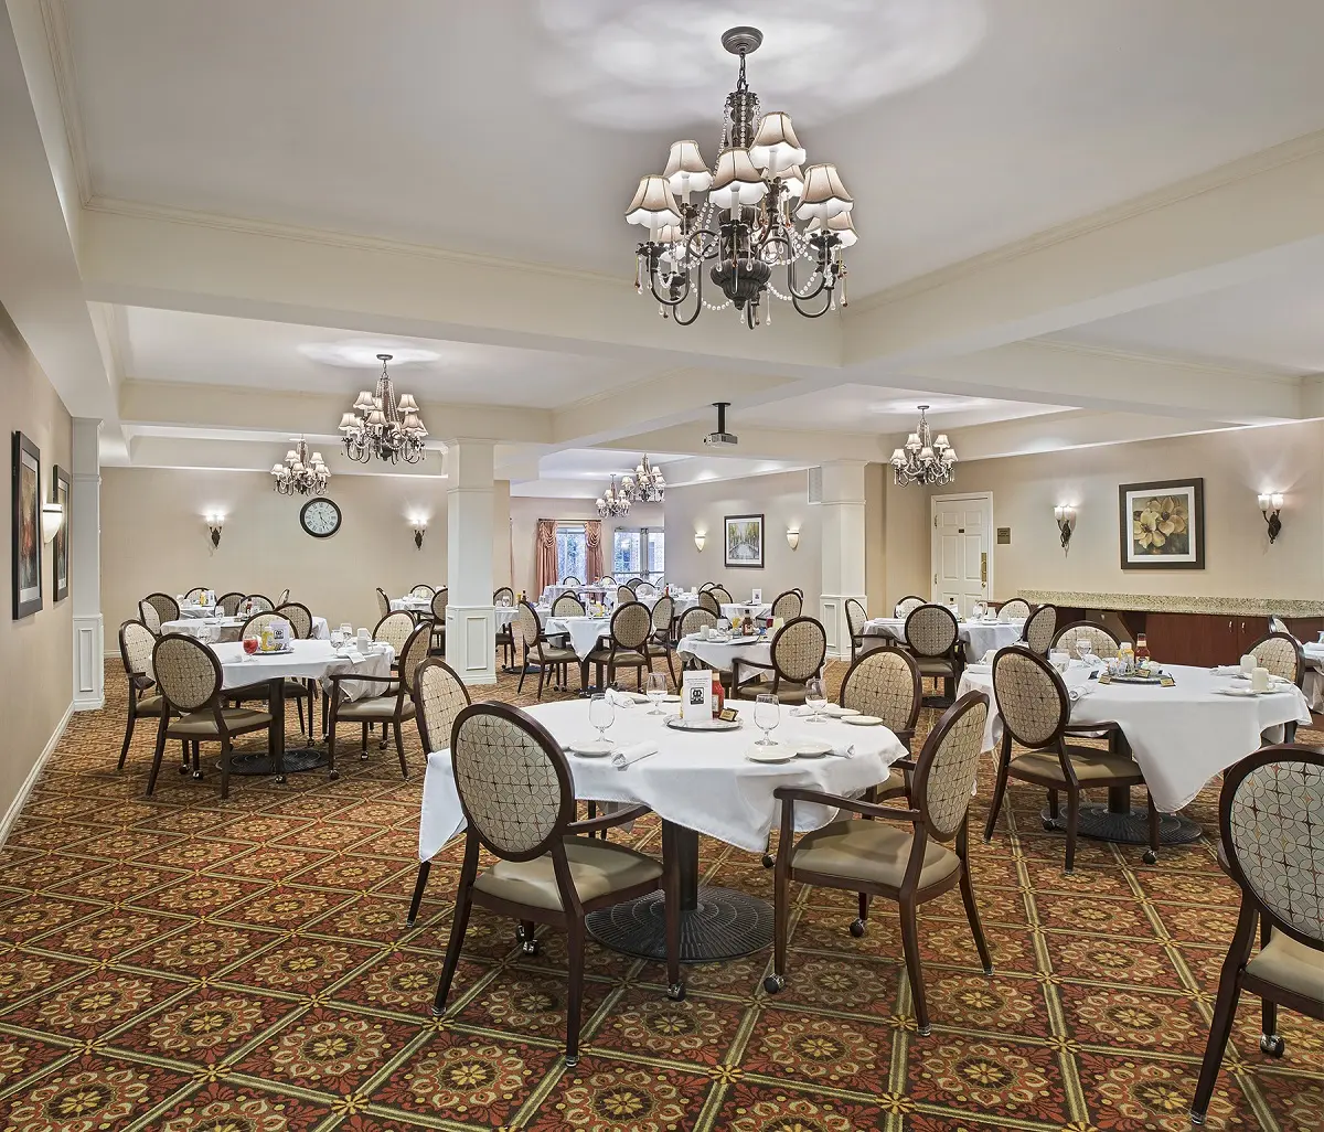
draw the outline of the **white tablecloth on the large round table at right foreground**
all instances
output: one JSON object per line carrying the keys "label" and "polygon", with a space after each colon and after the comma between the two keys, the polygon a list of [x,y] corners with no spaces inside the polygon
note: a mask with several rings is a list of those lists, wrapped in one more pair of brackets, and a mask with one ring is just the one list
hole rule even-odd
{"label": "white tablecloth on the large round table at right foreground", "polygon": [[[1135,753],[1155,804],[1164,813],[1189,805],[1204,785],[1221,771],[1239,763],[1260,745],[1260,732],[1284,723],[1309,724],[1305,696],[1298,687],[1272,695],[1226,696],[1221,687],[1246,687],[1245,681],[1219,677],[1209,669],[1166,665],[1176,687],[1152,684],[1099,684],[1072,665],[1067,684],[1084,683],[1091,691],[1076,700],[1072,723],[1116,720]],[[967,669],[959,695],[972,688],[993,698],[993,674],[984,666]],[[984,732],[986,751],[997,749],[1002,719],[997,700]]]}

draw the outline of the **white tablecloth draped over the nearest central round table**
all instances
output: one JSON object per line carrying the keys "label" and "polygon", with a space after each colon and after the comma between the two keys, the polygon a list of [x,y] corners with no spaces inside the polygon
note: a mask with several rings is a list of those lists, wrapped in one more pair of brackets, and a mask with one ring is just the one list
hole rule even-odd
{"label": "white tablecloth draped over the nearest central round table", "polygon": [[[761,732],[753,726],[753,704],[747,707],[751,710],[741,708],[744,727],[718,732],[673,731],[663,724],[663,716],[649,715],[647,704],[618,707],[608,737],[620,745],[650,743],[658,753],[624,771],[617,771],[610,759],[567,755],[576,797],[643,802],[669,821],[760,853],[779,820],[780,804],[772,796],[779,786],[858,793],[886,781],[887,768],[907,753],[886,727],[851,727],[831,719],[812,724],[782,708],[781,726],[773,732],[776,739],[821,739],[838,749],[854,745],[853,757],[829,755],[780,764],[751,763],[744,752]],[[527,711],[561,744],[583,743],[597,733],[588,722],[585,700],[539,704]],[[835,808],[800,804],[796,827],[818,829],[837,814]],[[428,756],[422,784],[418,859],[432,859],[463,829],[463,821],[450,752],[434,752]]]}

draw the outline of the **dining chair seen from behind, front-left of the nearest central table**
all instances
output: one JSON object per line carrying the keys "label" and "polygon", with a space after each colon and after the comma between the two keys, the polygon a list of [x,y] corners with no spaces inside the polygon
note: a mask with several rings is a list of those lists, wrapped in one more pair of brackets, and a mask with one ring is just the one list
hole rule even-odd
{"label": "dining chair seen from behind, front-left of the nearest central table", "polygon": [[[665,894],[666,993],[674,1001],[685,998],[681,886],[670,825],[663,825],[665,865],[589,835],[634,821],[647,806],[575,821],[571,771],[560,745],[535,719],[503,703],[475,703],[459,712],[450,759],[467,831],[433,1015],[445,1013],[474,904],[515,919],[530,951],[536,951],[534,925],[551,924],[569,936],[565,1064],[577,1064],[585,916],[659,888]],[[479,873],[483,849],[496,861]]]}

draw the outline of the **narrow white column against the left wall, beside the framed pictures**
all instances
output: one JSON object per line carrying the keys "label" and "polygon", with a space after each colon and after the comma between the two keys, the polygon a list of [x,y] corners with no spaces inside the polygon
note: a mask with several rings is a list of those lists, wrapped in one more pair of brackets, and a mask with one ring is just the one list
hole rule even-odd
{"label": "narrow white column against the left wall, beside the framed pictures", "polygon": [[106,703],[106,630],[101,614],[101,421],[73,420],[69,489],[69,589],[74,614],[74,711]]}

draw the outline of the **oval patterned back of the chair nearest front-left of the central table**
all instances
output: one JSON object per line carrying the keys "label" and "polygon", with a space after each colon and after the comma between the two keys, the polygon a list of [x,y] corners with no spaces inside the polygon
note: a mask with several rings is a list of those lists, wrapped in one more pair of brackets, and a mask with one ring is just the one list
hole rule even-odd
{"label": "oval patterned back of the chair nearest front-left of the central table", "polygon": [[450,731],[450,761],[465,818],[498,857],[540,857],[575,820],[565,755],[547,728],[519,708],[463,708]]}

